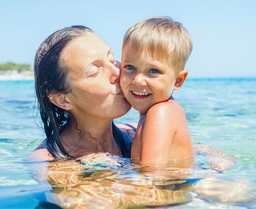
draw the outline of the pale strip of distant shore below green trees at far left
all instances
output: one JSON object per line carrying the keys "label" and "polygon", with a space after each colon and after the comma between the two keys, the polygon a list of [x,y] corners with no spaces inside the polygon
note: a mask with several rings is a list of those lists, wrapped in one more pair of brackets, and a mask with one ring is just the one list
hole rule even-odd
{"label": "pale strip of distant shore below green trees at far left", "polygon": [[0,70],[0,81],[34,80],[30,70]]}

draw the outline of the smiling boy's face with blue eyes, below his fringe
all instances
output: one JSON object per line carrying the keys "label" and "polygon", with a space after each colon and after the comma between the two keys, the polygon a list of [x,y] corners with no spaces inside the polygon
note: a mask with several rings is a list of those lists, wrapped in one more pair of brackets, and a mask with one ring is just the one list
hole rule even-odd
{"label": "smiling boy's face with blue eyes, below his fringe", "polygon": [[176,81],[174,71],[166,62],[131,50],[122,51],[120,84],[128,102],[141,114],[159,102],[168,100]]}

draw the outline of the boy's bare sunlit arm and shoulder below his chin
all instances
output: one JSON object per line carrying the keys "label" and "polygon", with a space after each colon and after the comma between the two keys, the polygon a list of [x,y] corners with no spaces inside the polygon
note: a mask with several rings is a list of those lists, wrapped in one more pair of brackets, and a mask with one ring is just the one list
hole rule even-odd
{"label": "boy's bare sunlit arm and shoulder below his chin", "polygon": [[167,164],[174,135],[184,123],[186,125],[185,113],[176,101],[152,106],[147,112],[141,134],[141,164],[153,167]]}

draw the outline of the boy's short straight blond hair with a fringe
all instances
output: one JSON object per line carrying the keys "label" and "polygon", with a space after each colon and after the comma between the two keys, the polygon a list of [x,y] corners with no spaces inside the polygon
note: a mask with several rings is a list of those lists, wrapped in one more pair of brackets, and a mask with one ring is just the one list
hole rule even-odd
{"label": "boy's short straight blond hair with a fringe", "polygon": [[125,33],[126,45],[138,55],[147,53],[166,61],[175,73],[184,69],[192,51],[192,39],[181,23],[170,17],[152,17],[131,26]]}

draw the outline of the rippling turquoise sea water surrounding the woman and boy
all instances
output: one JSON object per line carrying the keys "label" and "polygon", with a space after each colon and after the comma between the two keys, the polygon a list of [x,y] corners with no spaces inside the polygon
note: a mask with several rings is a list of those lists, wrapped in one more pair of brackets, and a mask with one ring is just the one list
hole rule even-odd
{"label": "rippling turquoise sea water surrounding the woman and boy", "polygon": [[[188,79],[181,90],[174,92],[174,98],[185,109],[195,145],[207,145],[221,150],[233,156],[235,162],[233,167],[223,173],[214,171],[209,173],[201,168],[189,171],[189,176],[174,178],[185,181],[181,183],[182,186],[177,183],[178,186],[176,185],[175,189],[170,186],[175,185],[175,182],[170,183],[172,171],[161,171],[167,178],[160,178],[161,182],[165,182],[165,188],[163,188],[162,183],[159,184],[159,179],[155,180],[153,174],[141,173],[137,170],[135,172],[135,166],[122,159],[119,159],[119,162],[122,162],[121,167],[97,164],[95,167],[98,170],[96,168],[95,170],[100,171],[97,173],[97,178],[93,177],[95,170],[84,168],[86,172],[83,170],[83,176],[78,178],[80,183],[73,182],[70,185],[70,182],[66,182],[60,186],[56,184],[56,180],[53,181],[54,178],[52,181],[48,179],[48,182],[38,183],[34,177],[36,175],[34,168],[40,167],[44,173],[47,173],[48,165],[24,161],[25,156],[29,155],[44,139],[43,130],[35,124],[35,121],[40,123],[40,119],[36,119],[37,108],[34,108],[34,81],[0,81],[0,92],[0,208],[58,208],[56,205],[79,208],[79,205],[74,205],[74,202],[76,204],[80,202],[79,204],[83,205],[85,203],[81,202],[86,197],[91,201],[94,199],[90,203],[91,208],[102,208],[99,202],[105,206],[110,204],[111,198],[103,198],[107,191],[114,192],[111,193],[116,197],[113,202],[119,201],[119,203],[115,206],[112,202],[112,206],[110,204],[106,208],[122,207],[122,205],[136,206],[136,204],[124,203],[132,202],[131,198],[122,199],[122,201],[119,198],[121,193],[128,196],[132,190],[137,191],[132,198],[140,194],[139,190],[146,191],[147,194],[155,192],[148,199],[156,198],[156,193],[165,192],[161,196],[162,199],[160,198],[161,201],[159,198],[155,199],[156,204],[152,204],[153,200],[144,201],[137,204],[140,207],[141,205],[159,205],[159,202],[162,202],[163,205],[168,205],[165,206],[166,208],[256,208],[256,79]],[[116,119],[118,124],[137,121],[138,113],[135,110]],[[212,159],[216,164],[222,163],[221,154],[219,157],[214,155]],[[199,164],[204,165],[206,161],[207,159],[197,156]],[[67,162],[64,162],[62,168],[66,165]],[[203,168],[208,168],[207,166],[204,165]],[[80,175],[81,170],[79,172]],[[109,175],[115,177],[111,179]],[[144,178],[143,181],[141,178]],[[110,179],[111,185],[109,185]],[[124,183],[122,181],[124,179],[129,180],[129,183]],[[143,183],[137,185],[138,182]],[[98,184],[92,185],[92,188],[104,187],[106,190],[101,191],[101,195],[98,196],[99,190],[88,194],[89,183]],[[87,187],[82,188],[81,185],[87,185]],[[150,186],[143,188],[142,185]],[[170,199],[172,194],[168,192],[188,188],[188,185],[191,185],[192,189],[188,189],[186,198],[180,201],[183,204],[171,206],[177,202]],[[70,187],[71,190],[69,190]],[[107,190],[108,188],[110,190]],[[80,195],[77,193],[74,195],[74,190],[76,192],[79,190]],[[81,193],[82,190],[84,193]],[[71,192],[68,193],[69,191]],[[76,196],[75,199],[74,196]],[[140,198],[137,199],[139,202]]]}

